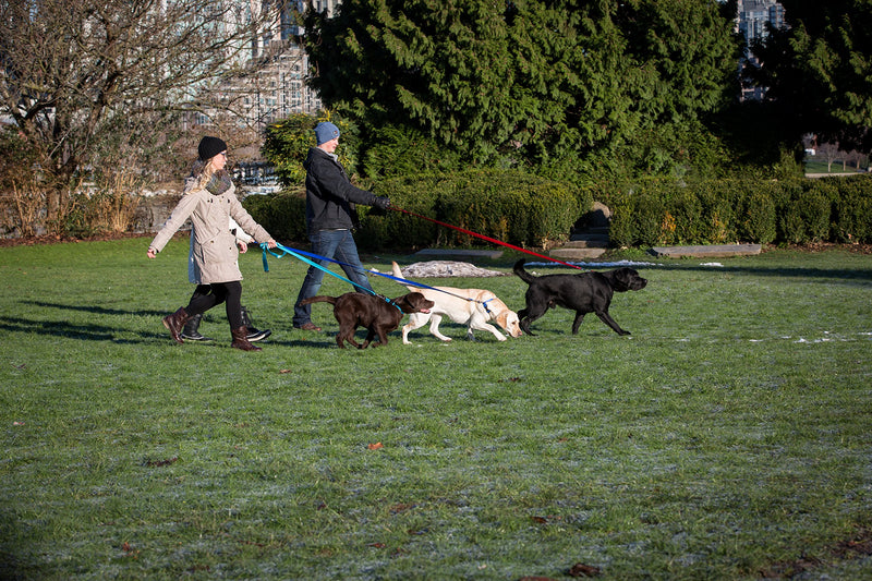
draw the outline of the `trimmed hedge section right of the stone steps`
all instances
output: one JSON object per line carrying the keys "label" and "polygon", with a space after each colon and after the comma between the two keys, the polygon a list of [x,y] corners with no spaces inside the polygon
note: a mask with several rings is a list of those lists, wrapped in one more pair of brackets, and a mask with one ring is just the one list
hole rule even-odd
{"label": "trimmed hedge section right of the stone steps", "polygon": [[617,246],[872,242],[872,177],[651,179],[601,187]]}

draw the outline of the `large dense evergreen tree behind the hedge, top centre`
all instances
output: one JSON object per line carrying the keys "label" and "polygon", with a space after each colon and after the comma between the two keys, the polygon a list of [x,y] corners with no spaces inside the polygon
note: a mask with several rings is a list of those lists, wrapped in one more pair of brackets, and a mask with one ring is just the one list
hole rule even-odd
{"label": "large dense evergreen tree behind the hedge, top centre", "polygon": [[313,84],[362,128],[501,165],[645,166],[653,147],[653,171],[688,162],[738,92],[732,27],[715,0],[359,0],[306,20]]}

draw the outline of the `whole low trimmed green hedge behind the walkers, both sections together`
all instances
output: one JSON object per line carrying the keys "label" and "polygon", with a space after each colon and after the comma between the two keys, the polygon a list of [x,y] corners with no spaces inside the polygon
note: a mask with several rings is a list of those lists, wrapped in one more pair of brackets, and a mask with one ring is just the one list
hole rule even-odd
{"label": "whole low trimmed green hedge behind the walkers, both sections together", "polygon": [[[870,175],[688,183],[652,178],[579,187],[517,170],[470,170],[388,179],[373,191],[395,207],[528,247],[566,238],[594,199],[611,209],[611,244],[619,247],[872,243]],[[279,240],[306,240],[303,193],[249,196],[243,204]],[[362,247],[488,244],[403,213],[359,211]]]}

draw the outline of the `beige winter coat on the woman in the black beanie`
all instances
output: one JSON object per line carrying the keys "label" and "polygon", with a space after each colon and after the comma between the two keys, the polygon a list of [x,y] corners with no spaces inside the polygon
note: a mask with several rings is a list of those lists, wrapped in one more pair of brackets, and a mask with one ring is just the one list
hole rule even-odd
{"label": "beige winter coat on the woman in the black beanie", "polygon": [[196,186],[186,191],[152,241],[152,247],[158,252],[164,250],[172,234],[187,218],[191,218],[191,223],[194,226],[191,251],[196,283],[211,285],[242,280],[242,273],[239,270],[239,249],[235,237],[228,228],[229,219],[233,218],[258,242],[266,242],[272,237],[245,211],[237,199],[235,191],[233,185],[217,196]]}

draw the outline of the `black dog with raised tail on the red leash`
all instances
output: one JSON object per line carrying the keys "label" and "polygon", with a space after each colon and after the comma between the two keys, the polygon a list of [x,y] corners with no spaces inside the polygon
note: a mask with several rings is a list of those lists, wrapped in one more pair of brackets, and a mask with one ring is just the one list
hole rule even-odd
{"label": "black dog with raised tail on the red leash", "polygon": [[608,314],[611,295],[615,292],[642,290],[647,280],[632,268],[618,268],[608,273],[581,273],[579,275],[545,275],[534,277],[524,270],[524,259],[514,263],[514,274],[530,285],[526,289],[526,308],[518,311],[521,329],[528,335],[530,324],[540,318],[548,308],[562,306],[576,312],[572,335],[578,335],[581,322],[588,313],[596,313],[600,320],[611,327],[618,335],[630,335],[615,323]]}

